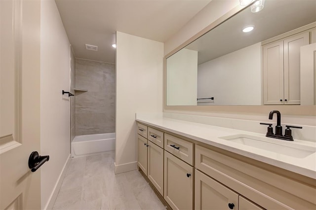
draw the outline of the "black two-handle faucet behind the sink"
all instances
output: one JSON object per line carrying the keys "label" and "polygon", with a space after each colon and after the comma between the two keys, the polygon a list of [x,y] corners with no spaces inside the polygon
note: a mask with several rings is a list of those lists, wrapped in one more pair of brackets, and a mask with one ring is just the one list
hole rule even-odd
{"label": "black two-handle faucet behind the sink", "polygon": [[284,136],[282,135],[282,126],[281,126],[281,113],[277,110],[270,111],[269,113],[269,120],[273,119],[273,115],[276,113],[276,134],[273,133],[273,128],[271,127],[271,123],[260,123],[261,125],[269,125],[267,135],[266,137],[271,137],[275,139],[281,139],[281,140],[293,140],[292,137],[292,131],[290,128],[300,128],[302,129],[303,127],[301,126],[290,126],[286,125],[286,130]]}

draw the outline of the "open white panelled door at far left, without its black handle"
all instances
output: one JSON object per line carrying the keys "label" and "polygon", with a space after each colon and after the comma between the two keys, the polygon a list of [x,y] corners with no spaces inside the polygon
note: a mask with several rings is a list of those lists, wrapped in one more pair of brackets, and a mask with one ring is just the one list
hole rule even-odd
{"label": "open white panelled door at far left, without its black handle", "polygon": [[1,210],[40,209],[40,170],[28,167],[39,150],[40,1],[0,0]]}

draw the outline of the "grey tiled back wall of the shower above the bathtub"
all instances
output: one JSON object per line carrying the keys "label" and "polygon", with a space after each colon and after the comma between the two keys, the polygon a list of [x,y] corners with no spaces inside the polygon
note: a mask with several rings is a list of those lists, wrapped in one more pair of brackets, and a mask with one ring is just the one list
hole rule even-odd
{"label": "grey tiled back wall of the shower above the bathtub", "polygon": [[76,59],[76,136],[115,132],[115,65]]}

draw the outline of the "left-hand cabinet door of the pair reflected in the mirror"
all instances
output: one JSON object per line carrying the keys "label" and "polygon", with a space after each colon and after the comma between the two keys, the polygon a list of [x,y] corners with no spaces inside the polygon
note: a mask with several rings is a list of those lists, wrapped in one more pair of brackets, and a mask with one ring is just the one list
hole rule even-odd
{"label": "left-hand cabinet door of the pair reflected in the mirror", "polygon": [[262,46],[263,104],[283,104],[283,41]]}

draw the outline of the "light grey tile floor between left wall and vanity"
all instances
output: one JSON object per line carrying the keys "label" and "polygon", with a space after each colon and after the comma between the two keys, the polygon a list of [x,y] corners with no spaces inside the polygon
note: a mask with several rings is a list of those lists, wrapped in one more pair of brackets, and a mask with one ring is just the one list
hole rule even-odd
{"label": "light grey tile floor between left wall and vanity", "polygon": [[140,172],[114,174],[114,156],[72,158],[53,210],[166,210]]}

